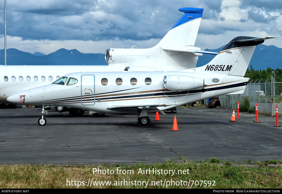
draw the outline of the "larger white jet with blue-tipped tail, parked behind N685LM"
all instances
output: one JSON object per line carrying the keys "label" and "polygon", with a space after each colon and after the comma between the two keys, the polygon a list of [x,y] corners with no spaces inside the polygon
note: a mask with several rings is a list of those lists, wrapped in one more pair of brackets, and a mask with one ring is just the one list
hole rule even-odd
{"label": "larger white jet with blue-tipped tail, parked behind N685LM", "polygon": [[[72,72],[107,71],[179,71],[196,67],[200,48],[194,47],[203,14],[202,8],[180,8],[184,12],[162,40],[148,49],[107,49],[107,66],[54,66],[54,65],[8,65],[0,66],[0,103],[19,91],[52,83],[59,77]],[[215,53],[209,53],[215,54]],[[71,56],[70,56],[71,57]],[[63,109],[72,115],[82,115],[83,109]]]}

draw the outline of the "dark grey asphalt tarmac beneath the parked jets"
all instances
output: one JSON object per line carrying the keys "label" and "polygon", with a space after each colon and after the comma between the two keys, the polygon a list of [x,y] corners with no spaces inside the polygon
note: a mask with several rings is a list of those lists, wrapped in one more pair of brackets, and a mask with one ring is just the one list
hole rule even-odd
{"label": "dark grey asphalt tarmac beneath the parked jets", "polygon": [[[0,164],[136,164],[162,163],[179,156],[193,161],[282,159],[282,127],[276,117],[240,113],[230,122],[230,109],[178,108],[160,114],[149,126],[137,115],[71,117],[50,110],[39,126],[40,108],[0,109]],[[174,115],[179,131],[171,131]],[[237,117],[237,113],[236,113]],[[280,121],[282,124],[282,120]]]}

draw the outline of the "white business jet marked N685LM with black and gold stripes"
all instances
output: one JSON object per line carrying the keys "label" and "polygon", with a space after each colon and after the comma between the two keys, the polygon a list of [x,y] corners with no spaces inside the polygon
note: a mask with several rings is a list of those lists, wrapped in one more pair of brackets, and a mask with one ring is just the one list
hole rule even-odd
{"label": "white business jet marked N685LM with black and gold stripes", "polygon": [[79,72],[50,85],[10,96],[11,103],[41,105],[39,125],[45,125],[45,105],[62,105],[109,114],[139,113],[141,125],[147,113],[223,94],[243,93],[249,78],[243,77],[256,45],[265,39],[239,36],[202,67],[171,72]]}

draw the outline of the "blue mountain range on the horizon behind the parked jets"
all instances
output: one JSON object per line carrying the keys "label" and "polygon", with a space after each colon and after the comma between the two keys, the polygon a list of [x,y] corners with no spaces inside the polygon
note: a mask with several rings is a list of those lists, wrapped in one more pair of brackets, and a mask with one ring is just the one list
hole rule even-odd
{"label": "blue mountain range on the horizon behind the parked jets", "polygon": [[[224,45],[225,46],[225,45]],[[205,49],[205,51],[220,52],[224,46],[218,49]],[[203,55],[199,57],[197,67],[210,62],[216,55]],[[0,64],[4,64],[4,49],[0,50]],[[282,48],[259,44],[254,51],[249,64],[255,70],[281,68]],[[107,65],[105,55],[102,53],[81,53],[76,49],[59,49],[49,55],[43,53],[28,53],[14,48],[7,49],[7,65]]]}

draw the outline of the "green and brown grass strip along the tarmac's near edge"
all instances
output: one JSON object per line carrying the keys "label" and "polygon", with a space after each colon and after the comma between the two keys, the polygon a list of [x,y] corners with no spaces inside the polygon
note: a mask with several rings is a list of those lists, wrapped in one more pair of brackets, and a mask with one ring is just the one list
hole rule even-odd
{"label": "green and brown grass strip along the tarmac's near edge", "polygon": [[[237,167],[227,162],[201,163],[186,161],[176,163],[136,164],[136,165],[0,165],[1,188],[281,188],[280,167],[266,166],[247,168]],[[94,173],[93,168],[105,174]],[[117,173],[117,169],[121,170]],[[150,173],[148,170],[158,170]],[[147,170],[147,173],[146,173]],[[161,171],[163,170],[163,171]],[[174,171],[174,174],[164,171]],[[109,173],[106,173],[109,172]],[[111,174],[110,172],[113,172]],[[125,172],[123,174],[122,172]],[[139,174],[138,174],[139,172]],[[140,173],[142,172],[142,173]],[[143,173],[145,172],[145,173]],[[159,172],[159,173],[158,173]],[[162,173],[161,173],[162,172]],[[189,174],[188,174],[189,173]],[[69,185],[67,185],[67,180]],[[89,180],[111,181],[110,185],[87,186]],[[128,181],[129,184],[120,183]],[[189,180],[195,181],[193,185]],[[73,181],[73,182],[71,182]],[[75,182],[76,181],[76,185]],[[77,186],[80,181],[80,186]],[[84,185],[82,183],[84,181]],[[181,182],[182,181],[182,185]],[[204,182],[210,181],[210,187]],[[213,182],[214,181],[214,182]],[[143,185],[140,184],[143,182]],[[144,184],[147,182],[146,184]],[[173,183],[174,182],[174,183]],[[186,185],[185,185],[186,183]],[[73,184],[73,185],[71,185]],[[115,185],[116,184],[116,185]],[[139,185],[138,185],[139,184]],[[177,185],[178,184],[178,185]],[[214,184],[214,185],[213,185]]]}

